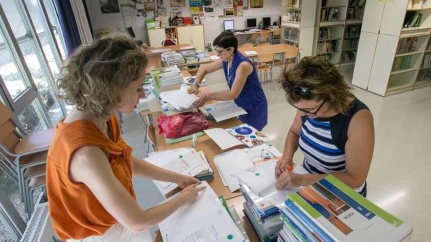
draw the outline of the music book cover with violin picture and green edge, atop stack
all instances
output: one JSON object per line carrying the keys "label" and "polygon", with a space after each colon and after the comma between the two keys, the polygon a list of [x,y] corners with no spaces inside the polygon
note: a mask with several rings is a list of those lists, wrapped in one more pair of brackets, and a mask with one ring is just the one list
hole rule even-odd
{"label": "music book cover with violin picture and green edge, atop stack", "polygon": [[404,241],[412,227],[335,178],[326,178],[287,198],[335,241]]}

